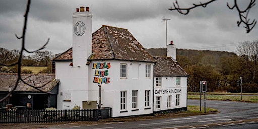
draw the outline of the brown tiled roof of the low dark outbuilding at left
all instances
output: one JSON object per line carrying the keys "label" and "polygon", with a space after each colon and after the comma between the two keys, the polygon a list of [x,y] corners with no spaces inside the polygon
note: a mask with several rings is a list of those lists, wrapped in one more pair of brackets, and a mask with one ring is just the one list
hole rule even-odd
{"label": "brown tiled roof of the low dark outbuilding at left", "polygon": [[[21,77],[28,84],[40,87],[39,89],[45,92],[50,92],[59,83],[58,80],[55,80],[55,74],[21,74]],[[0,73],[0,91],[9,91],[9,87],[13,89],[17,78],[17,74]],[[21,81],[15,91],[40,92]]]}

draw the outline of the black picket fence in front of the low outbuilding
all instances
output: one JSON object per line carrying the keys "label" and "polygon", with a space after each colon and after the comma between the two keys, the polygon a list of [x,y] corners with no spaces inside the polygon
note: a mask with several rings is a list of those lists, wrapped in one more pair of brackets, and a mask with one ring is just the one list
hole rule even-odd
{"label": "black picket fence in front of the low outbuilding", "polygon": [[111,108],[81,110],[0,110],[0,123],[98,121],[111,118]]}

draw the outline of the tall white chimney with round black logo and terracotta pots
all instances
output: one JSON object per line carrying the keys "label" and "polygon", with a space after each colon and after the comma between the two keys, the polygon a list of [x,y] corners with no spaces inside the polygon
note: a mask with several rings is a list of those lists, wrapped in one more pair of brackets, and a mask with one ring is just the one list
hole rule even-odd
{"label": "tall white chimney with round black logo and terracotta pots", "polygon": [[80,7],[73,13],[73,65],[80,67],[86,64],[91,55],[92,13],[89,7]]}

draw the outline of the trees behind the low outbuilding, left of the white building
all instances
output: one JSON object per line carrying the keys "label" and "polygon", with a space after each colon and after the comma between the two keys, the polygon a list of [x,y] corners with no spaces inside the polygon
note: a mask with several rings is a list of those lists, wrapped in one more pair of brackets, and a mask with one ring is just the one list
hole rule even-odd
{"label": "trees behind the low outbuilding, left of the white building", "polygon": [[[6,48],[0,47],[0,63],[12,64],[18,60],[20,56],[19,50],[8,50]],[[42,70],[40,73],[51,73],[52,59],[57,56],[51,51],[36,51],[33,54],[22,55],[21,65],[26,67],[47,67],[45,70]],[[0,66],[0,73],[17,73],[18,67],[5,67]],[[31,73],[30,70],[24,70],[22,73]]]}

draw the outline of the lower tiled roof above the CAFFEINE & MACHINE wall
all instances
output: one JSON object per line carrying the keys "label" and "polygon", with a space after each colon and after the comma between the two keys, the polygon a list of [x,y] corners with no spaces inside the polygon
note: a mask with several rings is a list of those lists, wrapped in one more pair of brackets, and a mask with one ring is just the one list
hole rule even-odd
{"label": "lower tiled roof above the CAFFEINE & MACHINE wall", "polygon": [[179,66],[177,61],[171,57],[153,56],[156,61],[154,66],[154,76],[188,76],[187,73]]}

